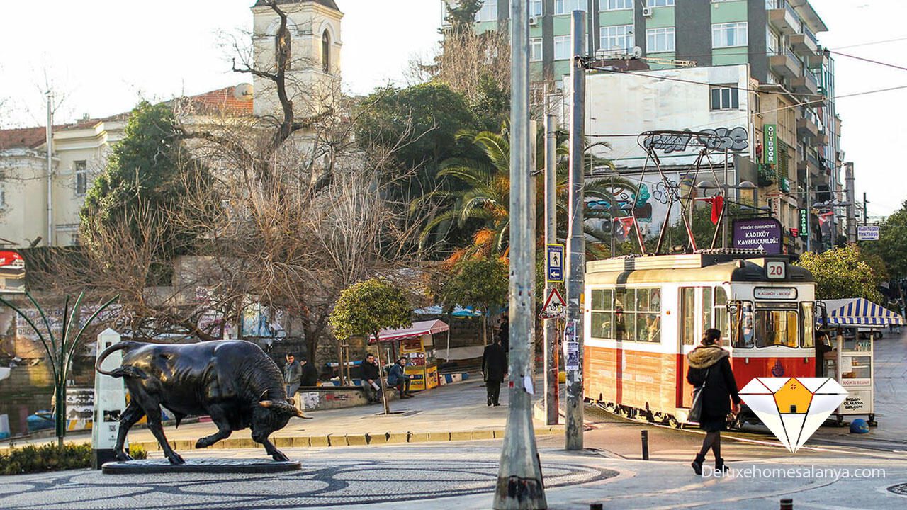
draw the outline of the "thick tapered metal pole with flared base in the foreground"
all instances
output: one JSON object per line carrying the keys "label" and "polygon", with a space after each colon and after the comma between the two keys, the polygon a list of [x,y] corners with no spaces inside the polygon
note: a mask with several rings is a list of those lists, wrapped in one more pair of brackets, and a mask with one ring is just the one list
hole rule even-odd
{"label": "thick tapered metal pole with flared base in the foreground", "polygon": [[530,346],[535,331],[535,216],[529,123],[529,0],[511,0],[510,408],[495,510],[548,508],[532,429]]}

